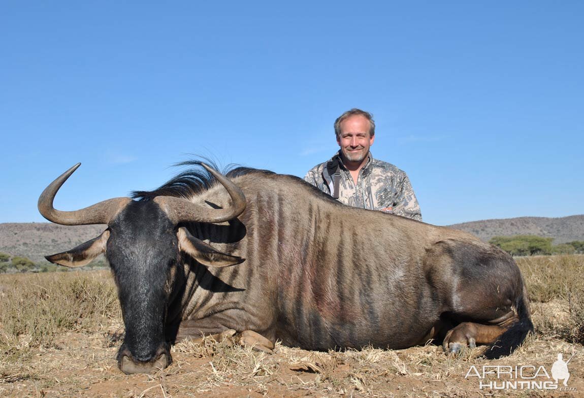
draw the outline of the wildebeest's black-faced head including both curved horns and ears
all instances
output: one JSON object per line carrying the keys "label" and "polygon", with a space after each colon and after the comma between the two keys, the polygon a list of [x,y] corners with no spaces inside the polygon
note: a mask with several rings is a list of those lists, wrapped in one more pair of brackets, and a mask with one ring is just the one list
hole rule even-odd
{"label": "wildebeest's black-faced head including both curved horns and ears", "polygon": [[97,238],[46,259],[62,266],[78,267],[105,253],[117,285],[126,327],[126,336],[117,354],[121,371],[145,373],[165,368],[172,361],[165,336],[166,311],[181,265],[181,252],[211,267],[231,266],[242,261],[218,252],[179,224],[234,219],[245,210],[244,193],[226,177],[201,163],[230,194],[230,208],[203,208],[183,198],[157,196],[142,201],[113,198],[77,211],[55,210],[55,194],[80,164],[61,174],[43,191],[39,211],[57,224],[107,224],[107,229]]}

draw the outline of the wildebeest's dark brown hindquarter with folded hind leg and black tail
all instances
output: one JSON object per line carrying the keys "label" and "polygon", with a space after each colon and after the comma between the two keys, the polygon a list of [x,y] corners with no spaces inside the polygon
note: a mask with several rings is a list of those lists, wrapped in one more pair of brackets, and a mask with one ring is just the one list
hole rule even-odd
{"label": "wildebeest's dark brown hindquarter with folded hind leg and black tail", "polygon": [[[533,329],[522,275],[512,257],[478,240],[440,240],[425,263],[430,287],[442,303],[434,336],[445,351],[491,344],[486,358],[498,358]],[[446,336],[444,336],[446,334]]]}

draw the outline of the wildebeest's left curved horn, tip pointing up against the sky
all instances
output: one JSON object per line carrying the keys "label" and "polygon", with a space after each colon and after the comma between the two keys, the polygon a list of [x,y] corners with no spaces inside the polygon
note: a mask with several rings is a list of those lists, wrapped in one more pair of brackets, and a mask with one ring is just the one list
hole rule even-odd
{"label": "wildebeest's left curved horn, tip pointing up against the sky", "polygon": [[39,197],[40,214],[48,221],[61,225],[109,224],[120,210],[131,201],[130,198],[108,199],[77,211],[60,211],[55,210],[53,207],[57,191],[79,166],[81,166],[81,163],[77,163],[77,165],[62,173],[44,189]]}

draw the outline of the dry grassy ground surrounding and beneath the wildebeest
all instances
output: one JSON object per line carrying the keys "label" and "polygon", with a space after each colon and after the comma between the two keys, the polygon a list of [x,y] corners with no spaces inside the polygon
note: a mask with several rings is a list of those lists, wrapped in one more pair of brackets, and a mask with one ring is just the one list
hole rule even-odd
{"label": "dry grassy ground surrounding and beneath the wildebeest", "polygon": [[[480,347],[447,356],[436,345],[343,352],[277,345],[267,355],[207,340],[176,344],[171,366],[130,376],[114,359],[124,329],[109,273],[1,275],[0,396],[584,396],[584,256],[528,257],[517,263],[529,288],[536,330],[514,354],[496,361],[478,358]],[[500,390],[496,382],[510,380],[508,375],[479,380],[472,371],[517,365],[544,366],[549,373],[558,353],[565,361],[573,355],[567,390]],[[525,377],[533,374],[525,369]]]}

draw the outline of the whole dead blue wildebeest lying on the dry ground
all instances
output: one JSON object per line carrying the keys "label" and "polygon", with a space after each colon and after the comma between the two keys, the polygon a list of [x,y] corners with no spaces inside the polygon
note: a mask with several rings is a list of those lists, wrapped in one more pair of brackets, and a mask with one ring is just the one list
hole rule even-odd
{"label": "whole dead blue wildebeest lying on the dry ground", "polygon": [[49,261],[75,267],[105,253],[126,327],[126,373],[168,366],[183,337],[232,336],[270,352],[487,344],[509,354],[533,328],[512,258],[468,233],[347,207],[293,176],[199,162],[154,191],[77,211],[39,210],[64,225],[107,224]]}

